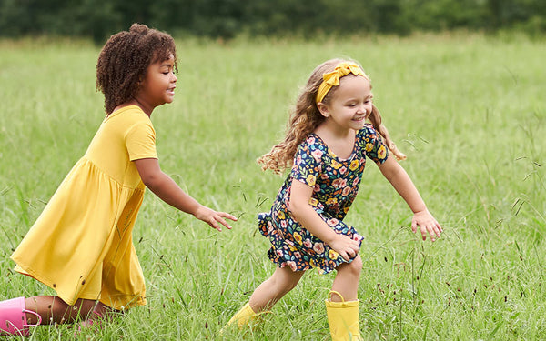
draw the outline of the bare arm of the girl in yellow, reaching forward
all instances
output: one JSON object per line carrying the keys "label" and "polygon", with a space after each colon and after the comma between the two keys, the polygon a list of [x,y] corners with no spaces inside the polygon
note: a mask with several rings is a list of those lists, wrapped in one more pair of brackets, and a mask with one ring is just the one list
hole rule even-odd
{"label": "bare arm of the girl in yellow, reaching forward", "polygon": [[161,171],[157,159],[144,158],[134,162],[144,185],[168,205],[195,216],[218,231],[222,230],[218,223],[231,228],[224,218],[237,220],[235,216],[225,212],[217,212],[199,204],[196,199],[188,196],[170,176]]}

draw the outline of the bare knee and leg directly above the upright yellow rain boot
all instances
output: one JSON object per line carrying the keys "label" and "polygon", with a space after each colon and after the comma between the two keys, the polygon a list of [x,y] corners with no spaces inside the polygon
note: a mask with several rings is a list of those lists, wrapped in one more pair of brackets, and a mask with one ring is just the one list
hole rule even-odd
{"label": "bare knee and leg directly above the upright yellow rain boot", "polygon": [[[358,297],[360,272],[362,271],[362,259],[357,255],[350,263],[338,266],[338,275],[334,279],[332,291],[337,291],[346,301],[355,301]],[[332,301],[340,302],[341,297],[332,296]]]}

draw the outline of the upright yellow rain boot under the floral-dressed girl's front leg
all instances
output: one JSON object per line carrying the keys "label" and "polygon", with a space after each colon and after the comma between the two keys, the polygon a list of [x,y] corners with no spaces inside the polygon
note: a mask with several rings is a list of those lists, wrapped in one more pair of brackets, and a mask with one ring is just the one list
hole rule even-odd
{"label": "upright yellow rain boot under the floral-dressed girl's front leg", "polygon": [[[341,302],[332,302],[332,294],[339,295],[339,297],[341,297]],[[359,300],[347,302],[339,292],[330,291],[325,303],[332,341],[361,340]]]}

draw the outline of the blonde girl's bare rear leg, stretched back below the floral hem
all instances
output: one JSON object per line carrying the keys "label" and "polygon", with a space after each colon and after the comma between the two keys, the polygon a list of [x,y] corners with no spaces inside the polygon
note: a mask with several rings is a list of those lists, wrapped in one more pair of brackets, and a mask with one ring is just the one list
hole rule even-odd
{"label": "blonde girl's bare rear leg, stretched back below the floral hem", "polygon": [[259,313],[275,306],[282,296],[287,295],[298,284],[304,273],[305,271],[292,271],[288,266],[278,267],[250,296],[252,310]]}

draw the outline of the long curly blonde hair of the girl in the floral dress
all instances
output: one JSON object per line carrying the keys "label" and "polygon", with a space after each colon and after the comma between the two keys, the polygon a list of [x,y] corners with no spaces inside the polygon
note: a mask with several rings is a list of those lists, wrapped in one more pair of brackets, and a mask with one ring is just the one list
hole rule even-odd
{"label": "long curly blonde hair of the girl in the floral dress", "polygon": [[[290,113],[286,135],[283,141],[277,145],[273,145],[268,154],[258,158],[258,164],[262,165],[263,170],[271,169],[273,172],[281,174],[285,169],[292,166],[294,155],[296,155],[296,151],[298,150],[298,145],[326,119],[326,117],[320,114],[315,101],[319,86],[322,83],[322,75],[332,72],[339,63],[343,62],[356,63],[352,60],[336,58],[322,63],[313,70],[307,84],[303,87],[298,96],[296,106]],[[328,105],[338,88],[339,86],[332,87],[322,100],[322,103]],[[394,154],[398,160],[404,160],[406,155],[399,151],[398,147],[390,138],[389,131],[385,125],[382,124],[381,115],[375,105],[372,106],[369,121],[383,138],[390,152]]]}

